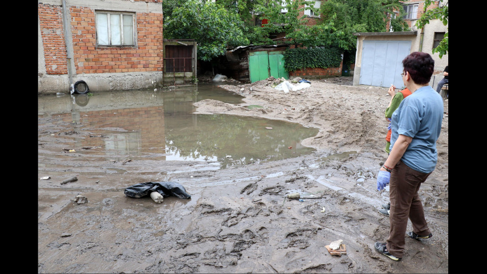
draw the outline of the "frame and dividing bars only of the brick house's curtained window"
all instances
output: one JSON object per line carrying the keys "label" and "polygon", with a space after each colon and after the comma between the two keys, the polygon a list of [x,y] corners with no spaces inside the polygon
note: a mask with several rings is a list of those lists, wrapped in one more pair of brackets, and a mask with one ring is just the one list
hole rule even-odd
{"label": "frame and dividing bars only of the brick house's curtained window", "polygon": [[[101,14],[106,14],[107,16],[107,21],[106,21],[106,24],[107,24],[107,37],[106,39],[108,40],[108,44],[103,44],[103,43],[100,43],[100,30],[99,30],[99,22],[98,22],[98,15],[101,15]],[[113,41],[112,41],[112,34],[111,34],[111,29],[112,29],[112,23],[110,21],[110,17],[111,16],[120,16],[120,20],[119,20],[119,23],[120,25],[118,26],[118,30],[120,31],[120,44],[113,44]],[[124,44],[126,43],[126,41],[124,41],[124,39],[126,39],[126,37],[128,37],[127,35],[125,35],[124,33],[124,27],[126,27],[126,25],[124,25],[124,21],[123,21],[123,16],[124,15],[130,15],[132,16],[132,20],[131,20],[131,23],[132,25],[129,26],[129,27],[132,27],[132,43],[128,43],[128,44]],[[137,13],[136,12],[129,12],[129,11],[112,11],[112,10],[95,10],[95,30],[96,30],[96,46],[97,47],[137,47]]]}

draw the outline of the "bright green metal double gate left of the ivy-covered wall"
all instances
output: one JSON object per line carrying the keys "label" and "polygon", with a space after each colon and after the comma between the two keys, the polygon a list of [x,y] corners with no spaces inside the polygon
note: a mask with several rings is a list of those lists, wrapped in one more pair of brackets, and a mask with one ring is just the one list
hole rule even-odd
{"label": "bright green metal double gate left of the ivy-covered wall", "polygon": [[254,51],[248,54],[248,70],[250,83],[274,78],[289,79],[284,70],[284,55],[282,51]]}

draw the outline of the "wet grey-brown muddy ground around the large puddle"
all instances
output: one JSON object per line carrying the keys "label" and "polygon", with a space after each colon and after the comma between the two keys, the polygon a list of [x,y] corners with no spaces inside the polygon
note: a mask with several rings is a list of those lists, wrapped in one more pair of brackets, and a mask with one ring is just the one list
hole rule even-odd
{"label": "wet grey-brown muddy ground around the large puddle", "polygon": [[[314,80],[288,93],[272,85],[222,83],[246,103],[195,105],[198,113],[319,128],[303,142],[317,149],[312,155],[215,171],[200,162],[69,154],[63,149],[70,142],[93,132],[81,125],[68,131],[69,123],[53,127],[53,117],[39,116],[38,272],[448,273],[448,100],[438,164],[420,189],[434,236],[406,238],[403,260],[394,262],[374,250],[389,233],[389,218],[378,212],[388,191],[376,189],[387,157],[387,90],[351,86],[351,77]],[[72,176],[78,181],[61,184]],[[192,197],[157,204],[123,193],[129,182],[155,180],[180,183]],[[295,192],[303,201],[286,197]],[[77,195],[87,202],[75,201]],[[325,249],[336,240],[343,240],[346,254]]]}

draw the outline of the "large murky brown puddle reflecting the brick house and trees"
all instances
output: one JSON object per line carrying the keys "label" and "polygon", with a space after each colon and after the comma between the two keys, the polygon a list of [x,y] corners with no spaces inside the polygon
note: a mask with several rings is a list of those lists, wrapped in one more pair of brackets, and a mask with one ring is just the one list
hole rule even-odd
{"label": "large murky brown puddle reflecting the brick house and trees", "polygon": [[73,140],[76,146],[101,147],[89,153],[111,158],[205,161],[226,168],[314,151],[301,141],[315,136],[315,128],[263,118],[193,114],[196,101],[239,104],[242,98],[214,84],[175,91],[43,95],[38,96],[38,115],[54,128],[57,122],[70,122],[73,132],[89,131],[82,140]]}

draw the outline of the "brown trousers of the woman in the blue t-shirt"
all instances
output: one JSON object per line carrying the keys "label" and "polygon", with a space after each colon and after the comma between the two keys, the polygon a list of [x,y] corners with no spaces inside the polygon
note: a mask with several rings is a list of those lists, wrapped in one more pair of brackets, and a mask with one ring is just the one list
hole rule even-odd
{"label": "brown trousers of the woman in the blue t-shirt", "polygon": [[426,181],[430,174],[415,171],[402,161],[399,161],[391,173],[389,183],[391,228],[387,238],[387,250],[398,258],[403,257],[408,218],[412,223],[412,231],[417,235],[425,236],[431,233],[417,193],[421,183]]}

